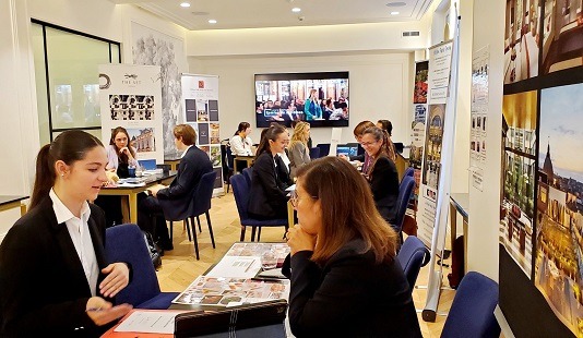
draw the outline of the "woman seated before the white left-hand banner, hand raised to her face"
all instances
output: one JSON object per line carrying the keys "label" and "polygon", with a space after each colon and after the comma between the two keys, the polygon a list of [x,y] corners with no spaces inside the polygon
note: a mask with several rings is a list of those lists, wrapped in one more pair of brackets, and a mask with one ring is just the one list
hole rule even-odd
{"label": "woman seated before the white left-hand banner, hand raised to her face", "polygon": [[128,168],[138,167],[135,159],[135,148],[130,146],[130,135],[123,126],[118,126],[111,131],[109,146],[107,147],[107,170],[115,171],[118,177],[129,178]]}

